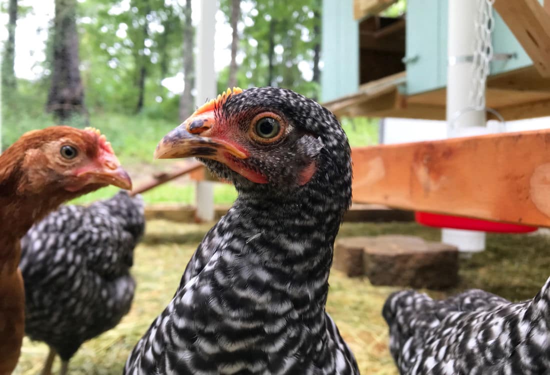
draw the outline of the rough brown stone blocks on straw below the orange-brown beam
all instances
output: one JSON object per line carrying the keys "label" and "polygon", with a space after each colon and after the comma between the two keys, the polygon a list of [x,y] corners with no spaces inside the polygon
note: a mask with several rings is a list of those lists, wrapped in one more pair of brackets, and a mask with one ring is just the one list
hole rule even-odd
{"label": "rough brown stone blocks on straw below the orange-brown beam", "polygon": [[351,237],[334,246],[334,268],[365,274],[373,285],[445,289],[458,283],[458,267],[455,246],[415,236]]}

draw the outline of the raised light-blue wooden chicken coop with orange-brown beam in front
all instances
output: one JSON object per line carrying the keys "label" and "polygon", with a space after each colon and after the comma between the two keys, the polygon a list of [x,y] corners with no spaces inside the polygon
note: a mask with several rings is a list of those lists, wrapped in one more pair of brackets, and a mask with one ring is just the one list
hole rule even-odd
{"label": "raised light-blue wooden chicken coop with orange-brown beam in front", "polygon": [[385,15],[393,3],[323,2],[323,104],[447,120],[447,139],[354,148],[354,201],[441,228],[550,226],[550,130],[486,126],[550,115],[550,2],[408,0]]}

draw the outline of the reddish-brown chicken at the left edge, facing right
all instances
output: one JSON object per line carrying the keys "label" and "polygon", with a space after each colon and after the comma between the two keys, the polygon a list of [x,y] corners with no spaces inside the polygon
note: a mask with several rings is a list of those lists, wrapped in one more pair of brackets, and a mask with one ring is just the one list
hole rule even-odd
{"label": "reddish-brown chicken at the left edge, facing right", "polygon": [[95,129],[29,131],[0,155],[0,374],[14,370],[24,334],[20,239],[64,201],[109,184],[131,188],[111,145]]}

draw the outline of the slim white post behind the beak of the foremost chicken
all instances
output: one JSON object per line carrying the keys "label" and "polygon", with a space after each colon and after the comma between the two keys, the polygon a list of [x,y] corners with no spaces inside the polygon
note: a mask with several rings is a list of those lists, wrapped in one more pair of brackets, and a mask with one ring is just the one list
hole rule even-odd
{"label": "slim white post behind the beak of the foremost chicken", "polygon": [[[216,71],[214,70],[214,32],[216,25],[216,0],[199,2],[201,20],[197,27],[196,89],[197,105],[216,97]],[[187,53],[193,53],[188,51]],[[196,219],[214,219],[214,183],[199,181],[196,184]]]}

